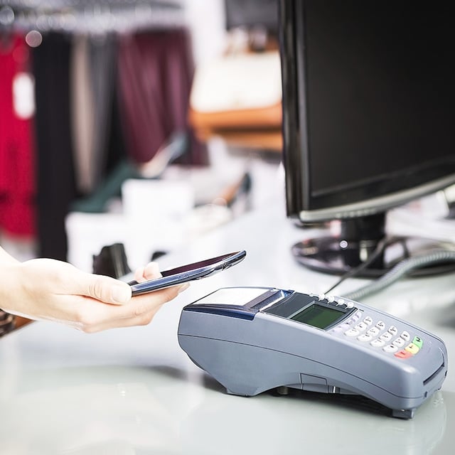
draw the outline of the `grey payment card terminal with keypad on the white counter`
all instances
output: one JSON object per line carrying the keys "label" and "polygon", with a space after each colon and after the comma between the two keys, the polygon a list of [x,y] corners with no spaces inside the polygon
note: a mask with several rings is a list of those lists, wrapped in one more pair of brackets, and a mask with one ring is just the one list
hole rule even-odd
{"label": "grey payment card terminal with keypad on the white counter", "polygon": [[410,419],[441,388],[444,342],[356,301],[222,288],[183,308],[178,343],[228,393],[278,387],[368,397]]}

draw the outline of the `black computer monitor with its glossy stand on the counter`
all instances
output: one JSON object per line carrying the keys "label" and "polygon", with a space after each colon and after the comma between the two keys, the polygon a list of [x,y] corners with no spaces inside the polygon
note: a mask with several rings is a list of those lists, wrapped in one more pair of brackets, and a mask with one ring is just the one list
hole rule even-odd
{"label": "black computer monitor with its glossy stand on the counter", "polygon": [[348,272],[387,210],[455,182],[453,18],[441,1],[279,0],[279,38],[287,215],[340,226],[293,252]]}

